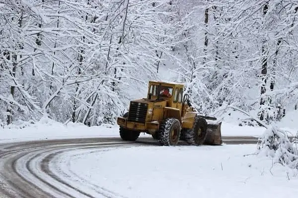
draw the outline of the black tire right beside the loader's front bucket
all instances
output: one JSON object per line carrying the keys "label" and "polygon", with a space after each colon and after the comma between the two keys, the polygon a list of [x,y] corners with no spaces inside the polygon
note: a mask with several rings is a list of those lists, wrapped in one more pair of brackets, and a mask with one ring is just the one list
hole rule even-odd
{"label": "black tire right beside the loader's front bucket", "polygon": [[185,141],[191,145],[203,145],[207,137],[206,119],[196,116],[194,126],[185,134]]}

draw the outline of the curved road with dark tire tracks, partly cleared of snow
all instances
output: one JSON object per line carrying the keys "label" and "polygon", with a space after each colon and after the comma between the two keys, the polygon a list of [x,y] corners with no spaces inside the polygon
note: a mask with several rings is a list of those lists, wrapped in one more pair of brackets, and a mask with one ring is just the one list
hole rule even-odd
{"label": "curved road with dark tire tracks, partly cleared of snow", "polygon": [[[223,137],[224,144],[256,144],[255,137]],[[124,142],[120,138],[85,138],[0,144],[0,198],[94,198],[51,172],[49,162],[58,154],[79,148],[158,146],[151,138]],[[180,141],[179,145],[186,145]],[[101,197],[119,195],[96,186]],[[120,196],[121,197],[121,196]]]}

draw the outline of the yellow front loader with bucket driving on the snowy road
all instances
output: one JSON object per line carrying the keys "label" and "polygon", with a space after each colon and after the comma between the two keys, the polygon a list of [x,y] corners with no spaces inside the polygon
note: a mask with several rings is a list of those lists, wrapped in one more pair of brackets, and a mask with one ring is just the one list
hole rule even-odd
{"label": "yellow front loader with bucket driving on the snowy road", "polygon": [[132,100],[129,112],[117,118],[120,137],[135,141],[145,132],[165,146],[175,146],[179,140],[191,145],[222,145],[222,123],[198,115],[189,96],[183,95],[183,87],[179,83],[149,81],[147,98]]}

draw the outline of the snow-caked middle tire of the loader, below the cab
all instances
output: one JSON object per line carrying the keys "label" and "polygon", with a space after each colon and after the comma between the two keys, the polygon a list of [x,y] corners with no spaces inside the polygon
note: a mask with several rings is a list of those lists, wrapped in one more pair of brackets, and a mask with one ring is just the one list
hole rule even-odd
{"label": "snow-caked middle tire of the loader, below the cab", "polygon": [[181,127],[179,120],[168,118],[159,127],[158,141],[163,146],[175,146],[179,142]]}

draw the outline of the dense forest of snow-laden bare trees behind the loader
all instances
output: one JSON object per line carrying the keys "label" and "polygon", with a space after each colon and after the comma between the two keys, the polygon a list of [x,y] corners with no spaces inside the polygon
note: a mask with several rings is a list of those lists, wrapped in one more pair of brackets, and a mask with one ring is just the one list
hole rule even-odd
{"label": "dense forest of snow-laden bare trees behind the loader", "polygon": [[161,68],[202,114],[276,122],[297,109],[298,1],[0,0],[0,126],[115,124]]}

